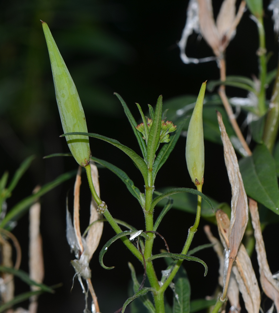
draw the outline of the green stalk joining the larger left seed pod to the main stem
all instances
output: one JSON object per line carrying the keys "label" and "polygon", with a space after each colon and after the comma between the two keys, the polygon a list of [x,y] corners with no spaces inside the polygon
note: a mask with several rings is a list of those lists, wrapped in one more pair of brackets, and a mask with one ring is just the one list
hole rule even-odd
{"label": "green stalk joining the larger left seed pod to the main stem", "polygon": [[[91,194],[92,197],[94,198],[94,200],[96,201],[96,203],[98,205],[102,204],[102,200],[100,199],[100,197],[97,195],[96,190],[94,188],[93,182],[92,182],[92,177],[91,177],[91,168],[90,165],[86,165],[85,166],[86,169],[86,174],[87,174],[87,179],[88,179],[88,183],[89,183],[89,187],[91,190]],[[105,211],[103,212],[106,220],[110,223],[111,227],[113,228],[113,230],[118,234],[118,233],[122,233],[122,229],[118,226],[118,224],[116,223],[116,221],[114,220],[114,218],[111,216],[111,213],[109,212],[109,210],[106,208]],[[126,237],[121,237],[121,240],[123,241],[123,243],[125,244],[125,246],[132,252],[132,254],[134,254],[142,263],[143,263],[143,258],[142,258],[142,254],[138,251],[138,249],[132,244],[132,242]]]}

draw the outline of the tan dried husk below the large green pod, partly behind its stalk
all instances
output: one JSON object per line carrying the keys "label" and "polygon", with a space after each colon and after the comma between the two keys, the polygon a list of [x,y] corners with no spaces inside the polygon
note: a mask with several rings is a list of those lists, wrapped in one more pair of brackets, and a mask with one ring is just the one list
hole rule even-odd
{"label": "tan dried husk below the large green pod, partly behind its stalk", "polygon": [[[98,169],[94,162],[91,160],[90,162],[90,167],[91,167],[91,176],[92,176],[92,181],[93,185],[95,187],[95,190],[97,192],[97,195],[100,197],[100,185],[99,185],[99,179],[98,179]],[[90,221],[89,223],[93,223],[98,219],[101,219],[103,217],[102,214],[97,213],[97,203],[91,198],[91,205],[90,205]],[[94,223],[87,234],[86,237],[86,244],[87,244],[87,249],[88,249],[88,254],[89,254],[89,260],[92,258],[93,253],[96,251],[101,236],[103,232],[103,222],[97,222]]]}

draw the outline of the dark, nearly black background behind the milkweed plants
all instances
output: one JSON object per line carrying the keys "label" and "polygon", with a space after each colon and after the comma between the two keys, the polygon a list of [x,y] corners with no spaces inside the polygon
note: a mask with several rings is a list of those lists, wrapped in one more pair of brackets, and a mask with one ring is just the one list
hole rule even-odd
{"label": "dark, nearly black background behind the milkweed plants", "polygon": [[[204,80],[218,79],[215,62],[183,64],[179,58],[177,42],[180,39],[188,1],[6,1],[1,3],[0,22],[0,162],[1,172],[10,176],[31,154],[35,161],[24,175],[8,200],[11,208],[28,196],[37,184],[53,180],[59,174],[77,168],[72,158],[42,157],[55,152],[68,152],[57,110],[49,56],[40,19],[48,23],[53,37],[75,81],[85,110],[88,131],[119,140],[139,152],[130,125],[121,104],[113,92],[119,93],[139,119],[135,102],[147,110],[147,104],[155,105],[159,95],[164,100],[174,96],[197,95]],[[214,0],[214,14],[222,1]],[[238,2],[239,3],[239,2]],[[265,8],[268,1],[265,1]],[[235,38],[227,52],[228,75],[258,74],[256,50],[258,47],[256,24],[246,11]],[[266,10],[267,51],[273,51],[268,69],[277,66],[277,38],[273,33],[271,13]],[[212,55],[204,40],[196,35],[189,38],[189,56]],[[270,96],[268,90],[268,96]],[[245,96],[246,93],[228,88],[229,96]],[[165,107],[166,108],[166,107]],[[240,116],[243,120],[243,116]],[[159,172],[156,188],[166,186],[193,187],[185,162],[185,138],[181,137],[168,162]],[[90,139],[92,154],[105,159],[129,173],[135,185],[143,191],[143,181],[129,158],[109,144]],[[205,142],[205,183],[203,192],[219,202],[230,203],[230,185],[225,172],[222,147]],[[135,199],[117,177],[106,169],[100,169],[101,198],[106,201],[113,217],[127,221],[137,229],[144,228],[143,213]],[[88,225],[90,192],[83,174],[81,190],[81,229]],[[72,203],[74,179],[55,188],[42,197],[41,232],[44,244],[45,279],[47,285],[62,282],[54,295],[44,294],[39,299],[39,313],[82,312],[84,296],[75,281],[70,292],[74,258],[65,236],[65,199],[69,191]],[[70,206],[72,209],[72,206]],[[157,209],[158,211],[160,208]],[[156,215],[157,216],[157,215]],[[194,216],[172,210],[163,220],[158,231],[166,238],[171,251],[180,252],[188,228]],[[194,237],[193,247],[207,243],[201,220]],[[271,237],[277,236],[275,226],[267,228]],[[217,234],[216,228],[212,230]],[[28,215],[18,222],[13,233],[23,250],[21,268],[28,271]],[[92,282],[103,313],[114,312],[127,299],[127,283],[130,272],[127,262],[142,268],[121,242],[115,242],[104,258],[106,265],[116,266],[107,271],[98,263],[101,247],[114,235],[110,226],[104,225],[101,243],[90,263]],[[264,233],[264,236],[266,234]],[[270,235],[269,235],[270,236]],[[154,253],[164,248],[156,239]],[[270,240],[266,243],[267,257],[275,259],[276,249]],[[277,247],[278,248],[278,247]],[[198,253],[209,266],[204,278],[203,267],[186,262],[191,287],[191,299],[212,295],[217,285],[218,260],[213,251]],[[255,255],[253,255],[255,260]],[[274,261],[275,262],[275,261]],[[270,261],[271,271],[278,270]],[[165,269],[162,260],[154,261],[160,271]],[[255,268],[257,272],[257,268]],[[16,280],[16,294],[28,287]],[[167,293],[172,299],[172,293]],[[24,303],[25,306],[28,302]],[[127,312],[129,310],[127,309]]]}

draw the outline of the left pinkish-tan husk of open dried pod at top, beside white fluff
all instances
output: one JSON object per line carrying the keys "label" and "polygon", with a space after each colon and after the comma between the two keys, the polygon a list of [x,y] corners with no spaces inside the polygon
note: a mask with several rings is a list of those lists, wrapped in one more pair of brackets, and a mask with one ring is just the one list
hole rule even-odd
{"label": "left pinkish-tan husk of open dried pod at top, beside white fluff", "polygon": [[199,3],[199,25],[204,40],[212,48],[216,56],[220,56],[220,35],[213,18],[211,0],[198,0]]}

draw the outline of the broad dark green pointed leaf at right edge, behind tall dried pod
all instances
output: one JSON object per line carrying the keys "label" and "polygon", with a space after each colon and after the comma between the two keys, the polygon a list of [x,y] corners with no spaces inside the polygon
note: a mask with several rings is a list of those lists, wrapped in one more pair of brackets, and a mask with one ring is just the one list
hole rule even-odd
{"label": "broad dark green pointed leaf at right edge, behind tall dried pod", "polygon": [[239,161],[247,195],[279,214],[279,188],[276,166],[265,145],[258,145],[253,155]]}

